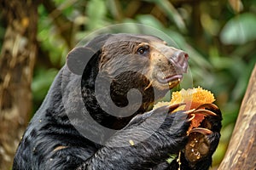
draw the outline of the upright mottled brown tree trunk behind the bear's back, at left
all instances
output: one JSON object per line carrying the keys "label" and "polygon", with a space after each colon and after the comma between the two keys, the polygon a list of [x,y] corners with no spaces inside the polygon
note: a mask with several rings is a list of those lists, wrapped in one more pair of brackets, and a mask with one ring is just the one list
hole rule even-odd
{"label": "upright mottled brown tree trunk behind the bear's back, at left", "polygon": [[37,1],[3,0],[6,31],[0,54],[0,169],[10,169],[32,111],[31,82],[37,55]]}

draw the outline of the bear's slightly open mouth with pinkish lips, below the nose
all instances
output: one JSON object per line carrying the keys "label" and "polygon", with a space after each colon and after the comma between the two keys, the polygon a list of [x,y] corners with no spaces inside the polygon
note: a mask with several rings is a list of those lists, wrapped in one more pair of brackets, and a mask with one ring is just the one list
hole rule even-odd
{"label": "bear's slightly open mouth with pinkish lips, below the nose", "polygon": [[158,75],[158,77],[157,77],[158,82],[160,82],[161,84],[164,84],[164,85],[168,84],[170,89],[177,86],[177,84],[179,84],[179,82],[182,79],[183,79],[182,74],[169,75],[169,76],[165,76],[165,77],[160,77],[160,75]]}

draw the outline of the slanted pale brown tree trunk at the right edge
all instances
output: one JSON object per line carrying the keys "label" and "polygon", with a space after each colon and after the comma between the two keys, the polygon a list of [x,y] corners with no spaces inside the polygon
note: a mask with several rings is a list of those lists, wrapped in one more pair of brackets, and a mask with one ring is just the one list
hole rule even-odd
{"label": "slanted pale brown tree trunk at the right edge", "polygon": [[256,65],[241,103],[228,150],[218,167],[254,170],[256,167]]}

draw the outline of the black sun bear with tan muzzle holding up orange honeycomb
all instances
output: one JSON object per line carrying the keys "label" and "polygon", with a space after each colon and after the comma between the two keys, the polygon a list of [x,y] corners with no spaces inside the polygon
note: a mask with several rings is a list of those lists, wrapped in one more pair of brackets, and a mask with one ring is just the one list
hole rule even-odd
{"label": "black sun bear with tan muzzle holding up orange honeycomb", "polygon": [[[148,35],[100,35],[74,48],[26,128],[13,170],[208,169],[220,118],[208,118],[207,156],[190,162],[180,152],[188,142],[186,111],[150,110],[182,80],[188,60]],[[166,161],[178,153],[181,165]]]}

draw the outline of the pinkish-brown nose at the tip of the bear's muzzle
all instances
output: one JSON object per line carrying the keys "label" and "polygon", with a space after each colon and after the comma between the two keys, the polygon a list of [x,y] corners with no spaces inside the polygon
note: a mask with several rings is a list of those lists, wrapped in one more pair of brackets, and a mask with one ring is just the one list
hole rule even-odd
{"label": "pinkish-brown nose at the tip of the bear's muzzle", "polygon": [[177,50],[172,54],[173,64],[177,65],[178,68],[181,68],[183,72],[187,72],[188,60],[189,54],[186,54],[182,50]]}

